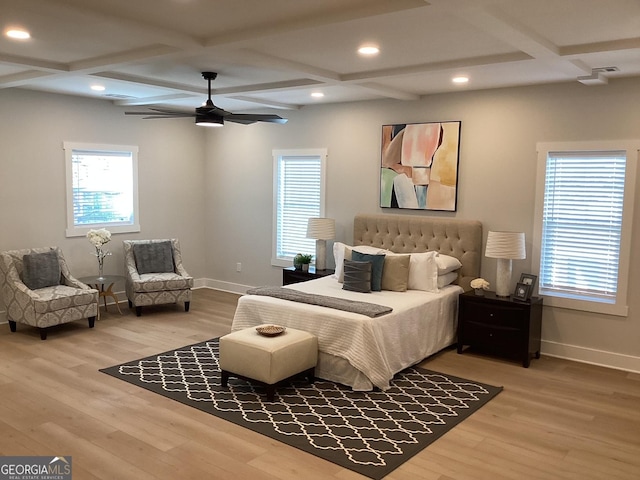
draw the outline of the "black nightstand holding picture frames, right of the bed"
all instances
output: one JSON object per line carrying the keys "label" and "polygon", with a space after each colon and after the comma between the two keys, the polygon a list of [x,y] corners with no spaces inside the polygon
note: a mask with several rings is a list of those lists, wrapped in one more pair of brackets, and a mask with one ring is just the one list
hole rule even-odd
{"label": "black nightstand holding picture frames, right of the bed", "polygon": [[541,327],[540,297],[520,302],[488,291],[484,296],[473,291],[460,295],[458,353],[470,345],[488,353],[522,359],[522,366],[528,368],[532,356],[540,358]]}

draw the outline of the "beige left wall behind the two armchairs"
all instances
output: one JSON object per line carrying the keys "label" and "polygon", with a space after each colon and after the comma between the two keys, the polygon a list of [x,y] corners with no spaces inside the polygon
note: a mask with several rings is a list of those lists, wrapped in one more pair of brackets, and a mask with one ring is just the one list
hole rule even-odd
{"label": "beige left wall behind the two armchairs", "polygon": [[[191,124],[143,122],[110,102],[0,90],[0,250],[57,245],[72,273],[97,273],[93,247],[65,237],[63,141],[139,147],[140,233],[113,235],[105,272],[124,272],[122,240],[178,237],[185,262],[206,276],[204,133]],[[116,289],[123,289],[116,286]]]}

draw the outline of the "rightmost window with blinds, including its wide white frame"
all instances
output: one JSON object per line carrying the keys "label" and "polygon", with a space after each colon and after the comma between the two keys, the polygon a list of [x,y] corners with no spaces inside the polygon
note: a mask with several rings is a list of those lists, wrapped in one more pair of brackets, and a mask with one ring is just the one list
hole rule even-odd
{"label": "rightmost window with blinds, including its wide white frame", "polygon": [[639,147],[538,144],[534,262],[545,304],[627,315]]}

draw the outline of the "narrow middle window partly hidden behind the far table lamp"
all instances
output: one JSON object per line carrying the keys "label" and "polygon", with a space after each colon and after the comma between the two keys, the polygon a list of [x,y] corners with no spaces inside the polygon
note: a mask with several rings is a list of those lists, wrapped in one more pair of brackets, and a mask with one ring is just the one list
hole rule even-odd
{"label": "narrow middle window partly hidden behind the far table lamp", "polygon": [[326,158],[325,149],[273,151],[272,265],[290,266],[297,253],[315,253],[307,220],[324,216]]}

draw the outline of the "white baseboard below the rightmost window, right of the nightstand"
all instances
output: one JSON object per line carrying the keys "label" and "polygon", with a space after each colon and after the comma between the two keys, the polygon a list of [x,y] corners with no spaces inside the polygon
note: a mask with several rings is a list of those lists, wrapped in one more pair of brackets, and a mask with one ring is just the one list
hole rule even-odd
{"label": "white baseboard below the rightmost window, right of the nightstand", "polygon": [[541,353],[550,357],[564,358],[574,362],[640,373],[640,357],[632,355],[623,355],[621,353],[579,347],[577,345],[566,345],[548,340],[542,341]]}

